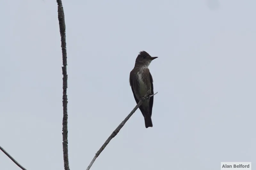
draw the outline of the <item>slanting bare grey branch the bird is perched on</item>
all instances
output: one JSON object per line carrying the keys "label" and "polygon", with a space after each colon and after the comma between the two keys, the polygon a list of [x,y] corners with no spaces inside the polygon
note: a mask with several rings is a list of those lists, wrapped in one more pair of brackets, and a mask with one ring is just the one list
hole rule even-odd
{"label": "slanting bare grey branch the bird is perched on", "polygon": [[108,137],[108,139],[106,140],[106,142],[100,147],[99,151],[95,154],[94,158],[92,159],[91,163],[89,164],[89,166],[86,168],[86,170],[89,170],[92,166],[92,164],[94,163],[94,161],[96,160],[96,158],[100,155],[100,153],[105,149],[105,147],[108,145],[108,143],[110,142],[111,139],[113,139],[117,133],[120,131],[120,129],[124,126],[124,124],[128,121],[128,119],[133,115],[133,113],[140,107],[140,105],[143,103],[143,101],[145,101],[146,99],[149,99],[150,97],[154,96],[155,94],[157,94],[157,92],[155,94],[150,95],[150,91],[147,92],[147,94],[145,96],[143,96],[139,103],[132,109],[131,113],[117,126],[117,128],[112,132],[112,134]]}

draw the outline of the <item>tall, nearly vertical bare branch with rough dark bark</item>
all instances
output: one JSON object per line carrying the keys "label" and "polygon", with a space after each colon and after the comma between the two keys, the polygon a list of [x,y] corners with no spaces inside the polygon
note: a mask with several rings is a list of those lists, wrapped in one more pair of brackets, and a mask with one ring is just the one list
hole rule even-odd
{"label": "tall, nearly vertical bare branch with rough dark bark", "polygon": [[64,168],[69,170],[68,163],[68,98],[67,98],[67,88],[68,88],[68,75],[67,75],[67,50],[66,50],[66,25],[65,17],[61,0],[57,0],[58,4],[58,18],[60,26],[60,37],[61,37],[61,49],[62,49],[62,74],[63,74],[63,120],[62,120],[62,145],[63,145],[63,159]]}

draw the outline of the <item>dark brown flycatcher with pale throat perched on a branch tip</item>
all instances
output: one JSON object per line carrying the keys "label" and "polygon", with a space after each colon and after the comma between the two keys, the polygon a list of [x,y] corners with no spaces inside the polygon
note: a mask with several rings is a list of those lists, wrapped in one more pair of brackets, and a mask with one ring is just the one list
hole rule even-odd
{"label": "dark brown flycatcher with pale throat perched on a branch tip", "polygon": [[[148,70],[148,66],[156,58],[158,57],[151,57],[146,51],[141,51],[136,58],[135,66],[130,73],[130,85],[137,104],[148,90],[151,90],[151,95],[154,94],[153,78]],[[139,107],[144,116],[146,128],[153,127],[151,121],[153,100],[154,96],[143,102]]]}

